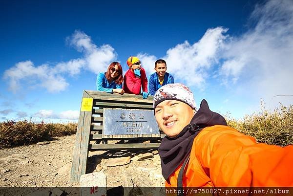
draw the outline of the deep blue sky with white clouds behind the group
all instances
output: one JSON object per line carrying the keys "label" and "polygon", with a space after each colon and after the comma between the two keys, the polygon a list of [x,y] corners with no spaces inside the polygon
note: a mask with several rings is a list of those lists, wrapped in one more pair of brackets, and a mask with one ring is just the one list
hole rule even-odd
{"label": "deep blue sky with white clouds behind the group", "polygon": [[129,56],[147,75],[164,58],[197,106],[237,119],[293,104],[292,0],[4,0],[0,25],[0,121],[77,121],[83,90]]}

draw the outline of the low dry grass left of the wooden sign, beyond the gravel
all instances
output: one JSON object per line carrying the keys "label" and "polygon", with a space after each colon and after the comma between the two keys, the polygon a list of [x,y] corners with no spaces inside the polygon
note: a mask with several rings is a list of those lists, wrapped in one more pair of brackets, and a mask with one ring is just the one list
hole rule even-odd
{"label": "low dry grass left of the wooden sign, beyond the gravel", "polygon": [[51,140],[56,136],[75,134],[76,123],[35,123],[32,121],[7,121],[0,123],[0,148],[10,148],[39,141]]}

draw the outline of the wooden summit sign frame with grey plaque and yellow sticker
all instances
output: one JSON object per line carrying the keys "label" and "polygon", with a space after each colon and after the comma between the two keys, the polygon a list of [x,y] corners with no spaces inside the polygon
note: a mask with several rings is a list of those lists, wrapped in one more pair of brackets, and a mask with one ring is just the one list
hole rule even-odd
{"label": "wooden summit sign frame with grey plaque and yellow sticker", "polygon": [[[157,149],[165,136],[153,113],[152,96],[84,90],[70,181],[85,174],[89,151]],[[112,140],[112,141],[111,141]],[[149,140],[150,142],[145,142]],[[117,141],[117,142],[116,142]]]}

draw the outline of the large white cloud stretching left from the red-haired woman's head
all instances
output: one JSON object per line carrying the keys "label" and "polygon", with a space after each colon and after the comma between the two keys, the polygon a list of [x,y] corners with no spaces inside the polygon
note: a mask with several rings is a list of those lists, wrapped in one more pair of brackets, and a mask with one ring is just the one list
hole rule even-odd
{"label": "large white cloud stretching left from the red-haired woman's head", "polygon": [[98,47],[81,31],[75,31],[67,38],[67,42],[83,52],[83,57],[59,62],[56,65],[35,66],[32,61],[19,62],[4,72],[3,78],[8,80],[9,89],[16,93],[22,86],[43,87],[51,93],[60,92],[69,86],[66,81],[67,75],[78,75],[82,69],[97,74],[105,71],[107,66],[117,58],[114,48],[108,44]]}

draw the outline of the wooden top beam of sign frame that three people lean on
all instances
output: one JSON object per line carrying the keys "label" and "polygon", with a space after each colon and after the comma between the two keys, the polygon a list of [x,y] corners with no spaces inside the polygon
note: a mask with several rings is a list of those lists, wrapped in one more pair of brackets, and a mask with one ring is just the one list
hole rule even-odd
{"label": "wooden top beam of sign frame that three people lean on", "polygon": [[107,92],[99,92],[94,90],[86,90],[86,92],[93,97],[94,99],[98,100],[111,100],[111,101],[131,101],[136,103],[149,103],[152,104],[153,96],[148,96],[147,99],[143,99],[142,95],[135,95],[135,94],[127,94],[124,93],[120,95],[118,93],[107,93]]}

